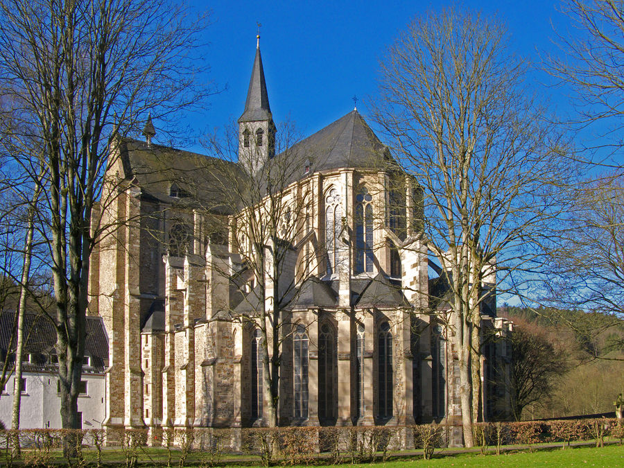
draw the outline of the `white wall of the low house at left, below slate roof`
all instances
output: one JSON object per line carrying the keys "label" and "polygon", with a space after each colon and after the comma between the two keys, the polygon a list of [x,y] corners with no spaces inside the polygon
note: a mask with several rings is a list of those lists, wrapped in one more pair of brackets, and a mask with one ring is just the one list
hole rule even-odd
{"label": "white wall of the low house at left, below slate roof", "polygon": [[[26,392],[21,395],[19,427],[60,428],[60,396],[57,392],[56,374],[24,372]],[[104,376],[83,374],[87,381],[87,394],[78,397],[78,411],[83,413],[83,429],[101,428],[104,420]],[[0,396],[0,420],[10,428],[13,404],[14,378],[6,384],[6,392]]]}

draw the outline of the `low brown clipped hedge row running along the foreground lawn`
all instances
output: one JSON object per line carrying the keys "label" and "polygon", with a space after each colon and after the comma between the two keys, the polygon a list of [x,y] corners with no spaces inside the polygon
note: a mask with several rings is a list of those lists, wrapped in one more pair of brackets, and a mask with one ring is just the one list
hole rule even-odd
{"label": "low brown clipped hedge row running along the foreground lawn", "polygon": [[[149,461],[153,465],[187,464],[216,466],[227,453],[247,453],[261,458],[263,465],[313,465],[387,460],[404,449],[422,449],[431,458],[435,449],[445,447],[458,426],[421,424],[417,426],[280,427],[280,428],[175,428],[132,429],[107,432],[101,429],[26,429],[0,431],[0,462],[50,466],[58,462],[64,448],[69,466],[97,466],[110,460],[105,444],[121,449],[127,467]],[[548,422],[497,422],[474,425],[475,444],[484,452],[503,445],[532,447],[539,443],[595,440],[602,446],[605,437],[622,443],[624,424],[618,419],[582,419]],[[164,447],[164,455],[154,459],[148,446]],[[85,449],[89,450],[85,460]],[[322,453],[321,457],[318,453]],[[116,460],[119,462],[119,460]]]}

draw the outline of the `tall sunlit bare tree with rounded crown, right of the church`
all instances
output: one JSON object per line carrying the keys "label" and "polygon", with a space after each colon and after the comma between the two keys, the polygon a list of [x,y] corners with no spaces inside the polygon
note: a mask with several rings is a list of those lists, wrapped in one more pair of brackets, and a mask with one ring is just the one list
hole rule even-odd
{"label": "tall sunlit bare tree with rounded crown, right of the church", "polygon": [[480,314],[536,266],[532,240],[547,234],[558,211],[551,187],[569,172],[506,40],[479,15],[415,19],[381,62],[374,111],[422,187],[426,241],[448,279],[468,447],[480,413]]}

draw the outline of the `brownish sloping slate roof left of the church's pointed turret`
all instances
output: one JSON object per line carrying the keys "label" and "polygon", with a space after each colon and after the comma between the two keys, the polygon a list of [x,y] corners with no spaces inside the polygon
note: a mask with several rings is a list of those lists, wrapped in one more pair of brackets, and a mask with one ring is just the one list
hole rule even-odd
{"label": "brownish sloping slate roof left of the church's pointed turret", "polygon": [[[171,204],[201,203],[225,214],[232,211],[225,193],[232,189],[240,172],[238,164],[168,146],[148,146],[132,138],[122,139],[119,146],[125,177],[141,187],[143,196]],[[169,196],[172,183],[189,197]]]}

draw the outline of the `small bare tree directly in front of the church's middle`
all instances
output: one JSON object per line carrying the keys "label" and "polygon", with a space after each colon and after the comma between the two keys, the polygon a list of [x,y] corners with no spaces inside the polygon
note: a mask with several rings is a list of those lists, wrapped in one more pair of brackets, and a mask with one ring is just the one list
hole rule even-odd
{"label": "small bare tree directly in front of the church's middle", "polygon": [[259,393],[268,396],[268,406],[258,416],[266,426],[275,427],[282,345],[297,327],[288,311],[306,282],[318,275],[324,246],[315,236],[314,182],[302,172],[304,155],[297,151],[294,126],[285,123],[270,128],[263,146],[245,146],[245,137],[233,133],[225,137],[225,144],[211,142],[221,159],[209,164],[220,174],[225,204],[234,209],[227,224],[216,229],[230,232],[230,248],[240,263],[234,270],[223,264],[212,268],[228,281],[234,279],[243,296],[229,311],[232,320],[251,324],[260,333],[257,355],[261,356],[263,385]]}

